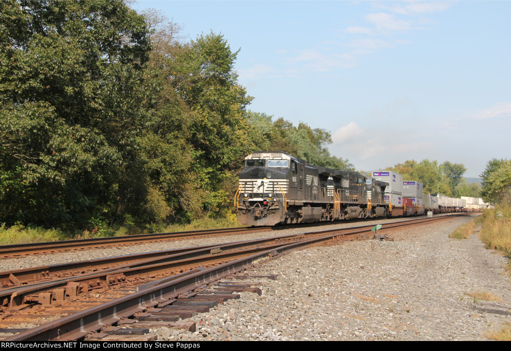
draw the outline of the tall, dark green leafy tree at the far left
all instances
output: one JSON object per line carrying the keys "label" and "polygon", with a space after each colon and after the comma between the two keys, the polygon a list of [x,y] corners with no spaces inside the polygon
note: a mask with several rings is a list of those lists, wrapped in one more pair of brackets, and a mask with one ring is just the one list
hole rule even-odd
{"label": "tall, dark green leafy tree at the far left", "polygon": [[0,33],[0,221],[83,223],[136,202],[123,180],[144,127],[144,18],[121,1],[11,0]]}

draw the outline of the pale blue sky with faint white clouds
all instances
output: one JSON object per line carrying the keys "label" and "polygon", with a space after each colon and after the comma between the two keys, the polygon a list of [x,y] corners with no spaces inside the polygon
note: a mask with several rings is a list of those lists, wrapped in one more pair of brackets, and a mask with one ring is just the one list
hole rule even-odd
{"label": "pale blue sky with faint white clouds", "polygon": [[329,130],[357,170],[425,158],[478,177],[511,152],[511,1],[145,1],[238,53],[248,109]]}

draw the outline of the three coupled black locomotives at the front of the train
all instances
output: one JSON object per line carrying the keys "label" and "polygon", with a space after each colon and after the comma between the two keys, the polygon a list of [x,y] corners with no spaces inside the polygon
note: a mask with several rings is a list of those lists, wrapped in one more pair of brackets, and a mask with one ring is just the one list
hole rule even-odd
{"label": "three coupled black locomotives at the front of the train", "polygon": [[387,216],[387,185],[284,152],[255,152],[245,157],[235,206],[240,223],[259,226]]}

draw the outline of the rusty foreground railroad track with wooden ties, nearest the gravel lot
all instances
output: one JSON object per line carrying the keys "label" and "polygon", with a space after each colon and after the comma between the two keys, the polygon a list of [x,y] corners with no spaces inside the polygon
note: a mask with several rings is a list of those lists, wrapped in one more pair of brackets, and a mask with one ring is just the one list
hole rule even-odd
{"label": "rusty foreground railroad track with wooden ties, nearest the gravel lot", "polygon": [[[380,229],[380,233],[388,234],[392,229],[427,224],[450,217],[389,223]],[[78,340],[92,337],[105,326],[126,323],[127,320],[133,321],[133,318],[165,320],[168,313],[173,313],[172,318],[176,318],[176,314],[181,312],[184,316],[183,303],[195,303],[194,306],[200,307],[203,306],[200,301],[210,303],[223,299],[218,294],[200,294],[197,297],[197,291],[204,290],[208,284],[215,284],[225,276],[249,269],[264,260],[292,250],[371,238],[372,227],[338,228],[196,247],[174,254],[167,252],[162,256],[139,258],[124,267],[110,270],[98,268],[96,272],[82,273],[66,279],[9,287],[0,291],[0,326],[5,327],[1,330],[4,333],[14,333],[22,329],[21,333],[5,339],[10,341]],[[225,291],[243,291],[243,288],[234,285],[223,286],[221,289],[225,298],[234,298],[227,296],[229,294]],[[195,292],[192,292],[194,290]],[[187,298],[190,300],[183,301]],[[162,309],[166,309],[167,314],[161,315]],[[24,330],[27,322],[41,325]]]}

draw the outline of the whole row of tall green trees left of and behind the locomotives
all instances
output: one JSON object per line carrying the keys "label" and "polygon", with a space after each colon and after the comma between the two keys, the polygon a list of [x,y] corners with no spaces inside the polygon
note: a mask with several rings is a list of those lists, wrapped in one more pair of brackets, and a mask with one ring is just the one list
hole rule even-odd
{"label": "whole row of tall green trees left of and behind the locomotives", "polygon": [[353,169],[328,131],[248,111],[237,53],[119,0],[0,2],[0,224],[224,217],[258,150]]}

